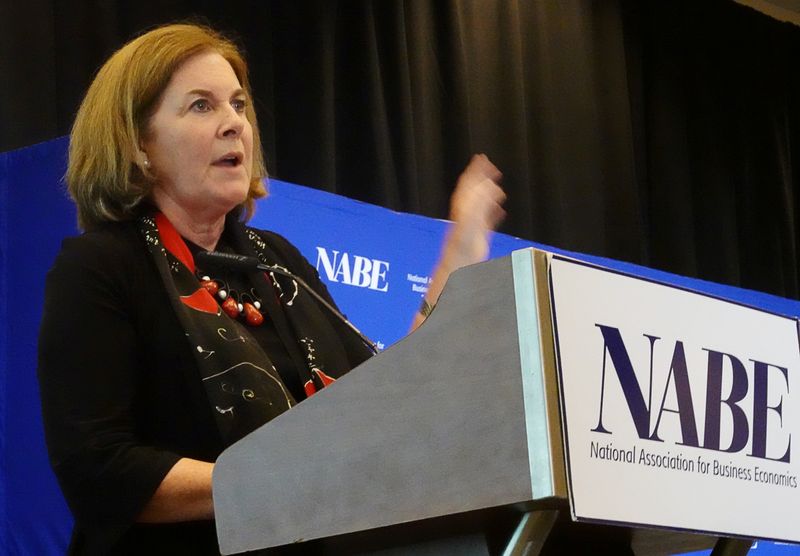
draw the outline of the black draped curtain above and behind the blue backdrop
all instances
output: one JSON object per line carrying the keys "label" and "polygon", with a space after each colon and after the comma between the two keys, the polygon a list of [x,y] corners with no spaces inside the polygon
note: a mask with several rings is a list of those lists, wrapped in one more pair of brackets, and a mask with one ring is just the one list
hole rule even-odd
{"label": "black draped curtain above and behind the blue backdrop", "polygon": [[276,177],[443,217],[486,152],[505,232],[798,295],[800,29],[730,0],[9,4],[0,150],[68,133],[113,50],[194,18],[244,45]]}

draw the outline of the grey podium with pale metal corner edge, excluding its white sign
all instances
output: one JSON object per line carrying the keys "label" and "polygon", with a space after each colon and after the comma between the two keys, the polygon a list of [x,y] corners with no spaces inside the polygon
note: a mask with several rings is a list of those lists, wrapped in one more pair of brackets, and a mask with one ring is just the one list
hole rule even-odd
{"label": "grey podium with pale metal corner edge, excluding its white sign", "polygon": [[454,273],[417,331],[228,448],[222,553],[537,554],[570,503],[546,256]]}

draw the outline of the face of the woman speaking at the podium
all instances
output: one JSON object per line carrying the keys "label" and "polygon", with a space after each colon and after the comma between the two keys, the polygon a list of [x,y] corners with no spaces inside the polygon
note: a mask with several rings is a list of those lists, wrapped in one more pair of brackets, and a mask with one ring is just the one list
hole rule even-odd
{"label": "face of the woman speaking at the podium", "polygon": [[196,54],[178,68],[142,144],[156,178],[156,206],[202,221],[245,201],[253,163],[248,102],[233,68],[216,52]]}

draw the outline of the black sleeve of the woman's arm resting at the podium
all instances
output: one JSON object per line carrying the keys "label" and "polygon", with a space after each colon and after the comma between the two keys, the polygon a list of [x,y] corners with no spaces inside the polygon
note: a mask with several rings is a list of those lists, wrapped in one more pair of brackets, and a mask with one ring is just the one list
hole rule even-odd
{"label": "black sleeve of the woman's arm resting at the podium", "polygon": [[[180,459],[137,440],[141,380],[125,245],[66,240],[47,276],[39,386],[53,470],[79,529],[113,543]],[[102,543],[101,543],[102,544]]]}

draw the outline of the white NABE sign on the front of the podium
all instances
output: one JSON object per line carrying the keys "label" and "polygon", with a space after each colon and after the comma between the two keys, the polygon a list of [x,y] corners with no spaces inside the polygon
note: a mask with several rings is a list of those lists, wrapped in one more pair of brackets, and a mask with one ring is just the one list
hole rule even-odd
{"label": "white NABE sign on the front of the podium", "polygon": [[575,519],[800,542],[797,321],[553,256]]}

